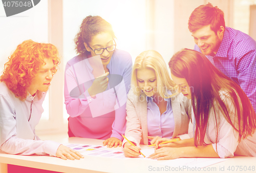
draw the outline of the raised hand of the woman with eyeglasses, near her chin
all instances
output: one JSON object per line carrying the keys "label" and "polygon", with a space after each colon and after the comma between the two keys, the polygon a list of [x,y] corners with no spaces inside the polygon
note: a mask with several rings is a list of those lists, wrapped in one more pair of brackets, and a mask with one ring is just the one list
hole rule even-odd
{"label": "raised hand of the woman with eyeglasses, near her chin", "polygon": [[109,78],[106,76],[109,74],[109,72],[106,72],[105,74],[94,79],[92,86],[88,89],[88,93],[91,97],[94,97],[96,94],[102,93],[106,90],[109,83]]}

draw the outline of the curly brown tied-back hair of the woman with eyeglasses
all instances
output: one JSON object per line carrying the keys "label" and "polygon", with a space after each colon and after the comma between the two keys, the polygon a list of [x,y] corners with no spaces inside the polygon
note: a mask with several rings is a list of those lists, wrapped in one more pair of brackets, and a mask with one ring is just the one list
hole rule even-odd
{"label": "curly brown tied-back hair of the woman with eyeglasses", "polygon": [[104,20],[100,16],[87,16],[82,20],[79,32],[75,37],[76,52],[83,54],[88,52],[84,47],[84,42],[89,44],[92,37],[102,32],[108,32],[113,38],[116,38],[112,26],[108,21]]}

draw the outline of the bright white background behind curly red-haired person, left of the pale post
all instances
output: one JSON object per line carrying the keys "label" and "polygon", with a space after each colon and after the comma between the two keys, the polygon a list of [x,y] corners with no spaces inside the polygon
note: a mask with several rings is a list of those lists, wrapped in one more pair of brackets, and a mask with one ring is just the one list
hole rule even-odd
{"label": "bright white background behind curly red-haired person, left of the pale post", "polygon": [[[4,63],[24,40],[48,42],[48,1],[41,1],[35,7],[6,17],[2,3],[0,5],[0,74]],[[43,119],[49,118],[49,97],[44,102]]]}

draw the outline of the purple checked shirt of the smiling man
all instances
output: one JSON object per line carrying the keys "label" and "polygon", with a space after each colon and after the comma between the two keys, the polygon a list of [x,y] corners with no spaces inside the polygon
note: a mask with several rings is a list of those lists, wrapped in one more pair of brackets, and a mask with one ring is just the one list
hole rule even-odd
{"label": "purple checked shirt of the smiling man", "polygon": [[[197,45],[194,50],[201,52]],[[206,57],[240,85],[256,112],[256,41],[241,31],[226,27],[217,54]]]}

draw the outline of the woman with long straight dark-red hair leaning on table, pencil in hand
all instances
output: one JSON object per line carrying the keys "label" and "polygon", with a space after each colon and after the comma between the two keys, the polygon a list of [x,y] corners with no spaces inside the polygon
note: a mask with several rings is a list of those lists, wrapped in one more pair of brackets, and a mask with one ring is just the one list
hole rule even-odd
{"label": "woman with long straight dark-red hair leaning on table, pencil in hand", "polygon": [[176,53],[169,67],[179,91],[192,101],[194,138],[159,145],[151,158],[256,157],[256,115],[239,85],[194,50]]}

